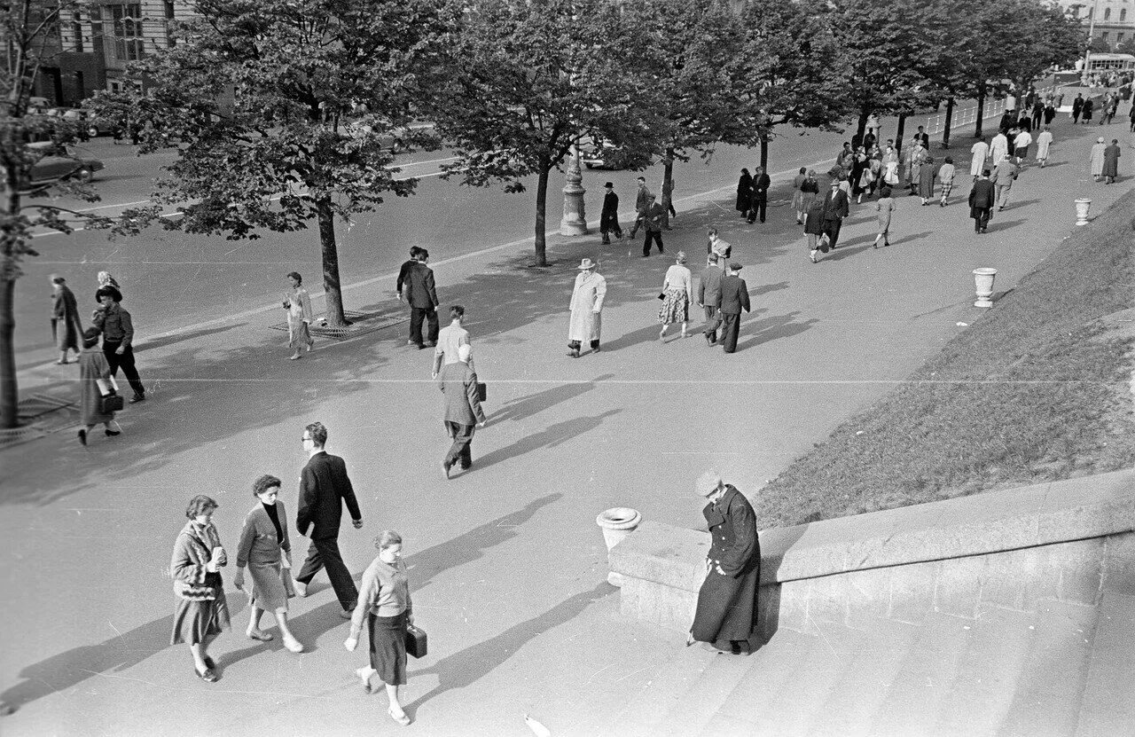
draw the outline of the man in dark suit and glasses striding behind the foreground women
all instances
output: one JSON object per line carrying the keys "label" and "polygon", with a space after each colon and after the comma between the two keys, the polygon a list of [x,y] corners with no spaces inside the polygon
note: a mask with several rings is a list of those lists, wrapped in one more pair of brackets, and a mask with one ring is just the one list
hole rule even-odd
{"label": "man in dark suit and glasses striding behind the foreground women", "polygon": [[[355,529],[362,527],[362,513],[354,496],[354,487],[347,478],[347,467],[338,455],[323,450],[327,444],[327,428],[322,422],[312,422],[303,428],[303,449],[308,452],[308,464],[300,471],[300,504],[295,526],[301,535],[311,538],[308,560],[295,577],[295,589],[300,596],[308,595],[308,584],[321,568],[327,569],[331,588],[339,600],[344,619],[351,619],[359,589],[351,579],[339,554],[339,520],[345,502]],[[308,528],[313,527],[308,535]]]}

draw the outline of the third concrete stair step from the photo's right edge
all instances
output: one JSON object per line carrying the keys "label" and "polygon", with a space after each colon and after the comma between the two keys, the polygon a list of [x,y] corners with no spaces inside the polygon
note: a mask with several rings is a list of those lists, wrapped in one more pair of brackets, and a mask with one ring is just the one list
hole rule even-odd
{"label": "third concrete stair step from the photo's right edge", "polygon": [[[958,663],[949,694],[927,735],[993,737],[998,734],[1012,706],[1017,681],[1028,659],[1036,615],[992,609],[967,620],[966,626],[973,628],[969,650]],[[1053,677],[1059,677],[1059,672]]]}

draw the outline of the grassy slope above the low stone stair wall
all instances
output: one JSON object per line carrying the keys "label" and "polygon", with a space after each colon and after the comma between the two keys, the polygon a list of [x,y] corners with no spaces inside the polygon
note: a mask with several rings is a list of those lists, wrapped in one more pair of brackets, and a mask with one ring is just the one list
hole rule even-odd
{"label": "grassy slope above the low stone stair wall", "polygon": [[981,320],[758,495],[766,525],[1135,464],[1135,192],[1077,229]]}

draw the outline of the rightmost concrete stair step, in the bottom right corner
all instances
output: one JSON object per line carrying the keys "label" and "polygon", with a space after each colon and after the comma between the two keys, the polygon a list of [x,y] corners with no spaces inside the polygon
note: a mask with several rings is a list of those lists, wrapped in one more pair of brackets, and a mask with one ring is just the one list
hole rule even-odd
{"label": "rightmost concrete stair step, in the bottom right corner", "polygon": [[1076,737],[1135,735],[1135,596],[1104,592]]}

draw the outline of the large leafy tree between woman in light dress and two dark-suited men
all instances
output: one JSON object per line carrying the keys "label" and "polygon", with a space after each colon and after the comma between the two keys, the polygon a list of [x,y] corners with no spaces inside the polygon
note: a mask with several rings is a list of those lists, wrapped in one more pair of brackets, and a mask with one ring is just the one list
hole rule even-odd
{"label": "large leafy tree between woman in light dress and two dark-suited men", "polygon": [[[155,198],[182,204],[167,228],[255,238],[319,227],[327,319],[348,324],[339,290],[335,217],[407,196],[390,139],[405,129],[437,62],[448,19],[434,0],[195,0],[179,43],[135,69],[144,93],[108,95],[142,126],[144,151],[178,140]],[[217,91],[230,94],[217,97]],[[123,108],[117,108],[121,114]],[[346,116],[365,110],[346,126]]]}

